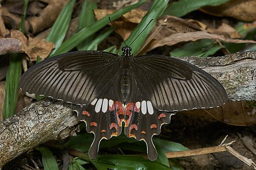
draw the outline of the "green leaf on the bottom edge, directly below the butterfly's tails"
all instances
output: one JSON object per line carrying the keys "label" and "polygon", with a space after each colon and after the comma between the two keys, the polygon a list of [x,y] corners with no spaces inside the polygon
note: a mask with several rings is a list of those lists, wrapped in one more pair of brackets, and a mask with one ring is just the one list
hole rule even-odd
{"label": "green leaf on the bottom edge, directly below the butterfly's tails", "polygon": [[97,169],[170,169],[158,161],[150,161],[142,156],[104,155],[92,161]]}

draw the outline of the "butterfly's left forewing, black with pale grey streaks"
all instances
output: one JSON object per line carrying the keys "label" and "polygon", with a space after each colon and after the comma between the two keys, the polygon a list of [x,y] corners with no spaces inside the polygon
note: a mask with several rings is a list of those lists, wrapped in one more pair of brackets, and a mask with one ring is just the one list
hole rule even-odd
{"label": "butterfly's left forewing, black with pale grey streaks", "polygon": [[27,70],[19,86],[30,94],[51,96],[73,104],[90,104],[115,75],[120,59],[99,51],[61,54]]}

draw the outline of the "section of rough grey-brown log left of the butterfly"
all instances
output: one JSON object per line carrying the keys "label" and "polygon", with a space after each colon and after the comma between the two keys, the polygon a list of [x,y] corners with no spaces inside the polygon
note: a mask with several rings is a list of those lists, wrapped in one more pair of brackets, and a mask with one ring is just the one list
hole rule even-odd
{"label": "section of rough grey-brown log left of the butterfly", "polygon": [[79,121],[62,101],[44,99],[0,122],[0,167],[46,141],[72,135]]}

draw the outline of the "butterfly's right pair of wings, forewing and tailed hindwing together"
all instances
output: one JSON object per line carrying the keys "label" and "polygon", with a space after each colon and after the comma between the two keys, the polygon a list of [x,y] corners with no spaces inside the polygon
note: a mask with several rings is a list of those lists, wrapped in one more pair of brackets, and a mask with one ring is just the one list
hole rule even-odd
{"label": "butterfly's right pair of wings, forewing and tailed hindwing together", "polygon": [[217,107],[227,100],[221,84],[205,71],[166,56],[131,60],[131,92],[125,108],[125,134],[145,141],[150,160],[157,158],[152,136],[169,124],[174,111]]}

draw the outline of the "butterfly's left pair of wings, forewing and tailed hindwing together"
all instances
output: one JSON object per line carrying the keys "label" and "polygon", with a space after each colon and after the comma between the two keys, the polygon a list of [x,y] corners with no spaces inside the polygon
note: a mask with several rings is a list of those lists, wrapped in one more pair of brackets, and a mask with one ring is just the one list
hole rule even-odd
{"label": "butterfly's left pair of wings, forewing and tailed hindwing together", "polygon": [[66,53],[32,66],[23,74],[19,86],[30,94],[83,105],[78,118],[86,122],[86,131],[94,133],[89,156],[96,158],[101,139],[122,132],[120,66],[121,59],[112,53]]}

